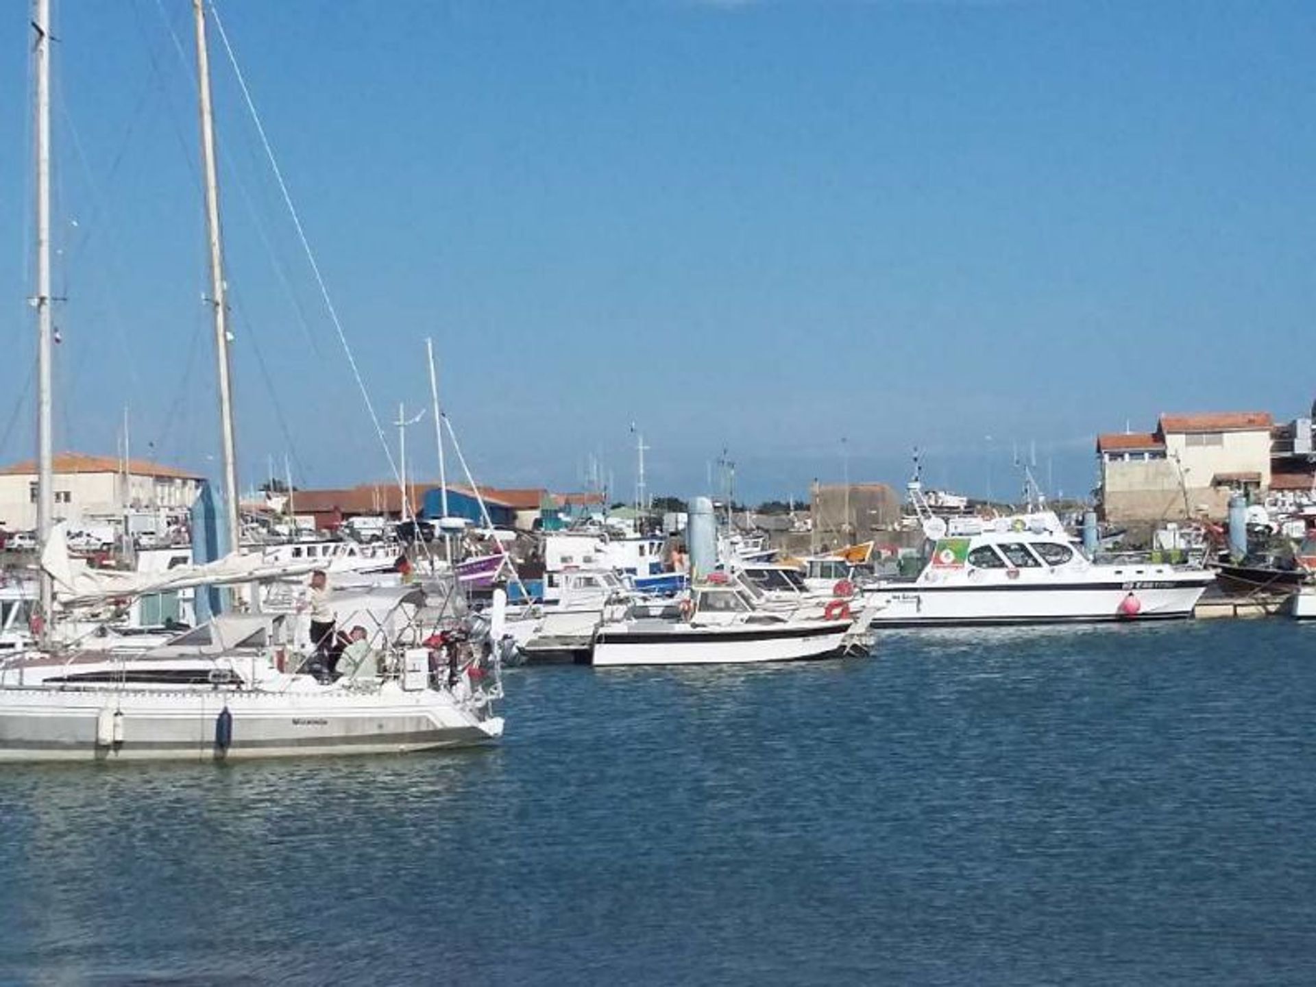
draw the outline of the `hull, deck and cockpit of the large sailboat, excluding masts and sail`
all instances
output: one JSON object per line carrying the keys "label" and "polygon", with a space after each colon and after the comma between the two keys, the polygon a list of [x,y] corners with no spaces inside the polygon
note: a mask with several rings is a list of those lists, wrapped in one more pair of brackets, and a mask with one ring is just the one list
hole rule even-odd
{"label": "hull, deck and cockpit of the large sailboat, excluding masts and sail", "polygon": [[379,626],[368,666],[332,679],[299,670],[290,622],[225,614],[145,652],[13,656],[0,664],[0,761],[365,754],[501,735],[487,643],[408,644],[418,633]]}

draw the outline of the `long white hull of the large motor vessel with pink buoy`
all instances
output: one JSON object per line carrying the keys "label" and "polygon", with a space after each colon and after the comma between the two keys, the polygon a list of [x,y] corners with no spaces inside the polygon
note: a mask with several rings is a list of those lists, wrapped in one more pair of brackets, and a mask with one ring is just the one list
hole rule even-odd
{"label": "long white hull of the large motor vessel with pink buoy", "polygon": [[[1015,584],[929,587],[886,585],[865,590],[875,610],[871,627],[1032,624],[1152,620],[1192,616],[1209,578],[1109,584]],[[1126,612],[1133,594],[1137,612]]]}

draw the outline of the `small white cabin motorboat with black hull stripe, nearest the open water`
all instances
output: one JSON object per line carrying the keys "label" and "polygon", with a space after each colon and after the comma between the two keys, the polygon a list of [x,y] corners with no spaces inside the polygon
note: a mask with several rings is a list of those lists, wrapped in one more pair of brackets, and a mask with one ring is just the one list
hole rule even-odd
{"label": "small white cabin motorboat with black hull stripe, nearest the open water", "polygon": [[754,606],[741,586],[699,585],[659,615],[632,611],[600,624],[592,664],[715,665],[825,658],[840,653],[851,620],[790,618]]}

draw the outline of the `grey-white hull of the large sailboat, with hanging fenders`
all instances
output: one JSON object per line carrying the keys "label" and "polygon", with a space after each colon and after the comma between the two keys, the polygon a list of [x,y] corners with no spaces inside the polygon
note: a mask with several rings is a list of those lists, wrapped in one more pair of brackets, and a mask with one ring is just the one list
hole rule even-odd
{"label": "grey-white hull of the large sailboat, with hanging fenders", "polygon": [[[221,711],[230,740],[217,743]],[[121,715],[107,735],[107,718]],[[315,754],[375,754],[495,740],[503,720],[446,693],[387,683],[346,690],[0,690],[0,761],[216,761]],[[117,737],[117,741],[112,737]]]}

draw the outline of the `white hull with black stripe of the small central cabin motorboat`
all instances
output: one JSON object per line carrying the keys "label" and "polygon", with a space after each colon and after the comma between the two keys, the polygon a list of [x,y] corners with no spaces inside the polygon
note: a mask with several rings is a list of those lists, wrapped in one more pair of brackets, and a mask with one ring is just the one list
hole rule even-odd
{"label": "white hull with black stripe of the small central cabin motorboat", "polygon": [[[657,622],[655,622],[657,623]],[[649,622],[601,628],[594,639],[592,664],[724,665],[824,658],[837,653],[849,620],[791,622],[780,626],[737,624],[647,627]]]}

